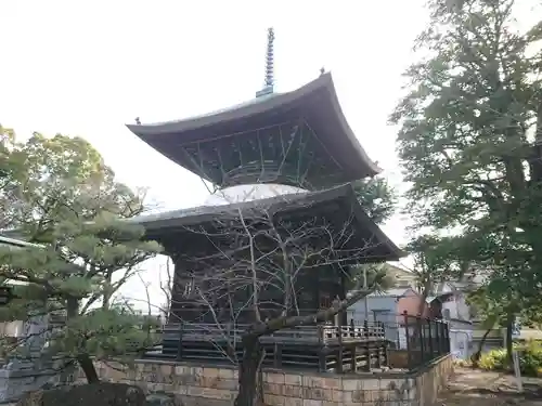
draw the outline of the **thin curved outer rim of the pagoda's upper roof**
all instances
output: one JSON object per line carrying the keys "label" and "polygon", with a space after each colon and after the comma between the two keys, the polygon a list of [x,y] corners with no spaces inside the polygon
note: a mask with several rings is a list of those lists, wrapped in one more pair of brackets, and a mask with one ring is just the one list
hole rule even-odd
{"label": "thin curved outer rim of the pagoda's upper roof", "polygon": [[[348,125],[340,104],[338,102],[335,86],[333,83],[332,75],[330,73],[321,75],[318,79],[307,83],[306,86],[287,93],[271,94],[256,99],[249,103],[244,103],[234,106],[230,109],[219,110],[203,116],[192,117],[179,121],[170,121],[156,125],[127,125],[128,129],[138,135],[142,141],[155,147],[154,142],[159,135],[166,134],[181,134],[192,130],[197,130],[205,127],[214,127],[227,121],[242,120],[247,117],[263,115],[275,108],[285,105],[302,105],[310,104],[311,96],[314,93],[320,93],[326,90],[325,95],[333,107],[334,117],[338,129],[348,139],[351,146],[357,150],[359,157],[365,163],[371,173],[367,175],[373,176],[382,171],[382,169],[369,157],[365,149],[361,146],[352,129]],[[181,143],[183,140],[179,140]],[[162,150],[157,149],[163,153]]]}

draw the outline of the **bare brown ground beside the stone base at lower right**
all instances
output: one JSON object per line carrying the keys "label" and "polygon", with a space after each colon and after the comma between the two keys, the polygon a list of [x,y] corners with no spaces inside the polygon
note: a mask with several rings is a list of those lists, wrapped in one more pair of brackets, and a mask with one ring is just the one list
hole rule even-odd
{"label": "bare brown ground beside the stone base at lower right", "polygon": [[[443,406],[542,406],[542,379],[524,378],[524,393],[518,393],[512,375],[474,369],[455,369],[455,377],[442,392]],[[439,404],[439,406],[440,406]]]}

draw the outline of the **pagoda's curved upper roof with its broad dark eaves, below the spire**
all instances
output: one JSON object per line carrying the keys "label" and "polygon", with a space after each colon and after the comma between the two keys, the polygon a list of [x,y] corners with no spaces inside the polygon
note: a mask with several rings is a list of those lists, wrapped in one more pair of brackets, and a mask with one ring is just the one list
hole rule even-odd
{"label": "pagoda's curved upper roof with its broad dark eaves, below the spire", "polygon": [[[224,179],[218,171],[211,173],[197,169],[194,157],[182,149],[195,143],[216,142],[218,145],[219,140],[224,137],[298,119],[310,126],[323,150],[328,154],[328,160],[340,168],[343,175],[335,178],[339,181],[337,183],[373,176],[380,171],[349,127],[330,73],[297,90],[262,95],[230,108],[177,121],[127,127],[175,162],[215,184],[223,185]],[[209,150],[203,154],[208,155]],[[319,176],[313,178],[318,180]],[[322,184],[322,187],[327,186]]]}

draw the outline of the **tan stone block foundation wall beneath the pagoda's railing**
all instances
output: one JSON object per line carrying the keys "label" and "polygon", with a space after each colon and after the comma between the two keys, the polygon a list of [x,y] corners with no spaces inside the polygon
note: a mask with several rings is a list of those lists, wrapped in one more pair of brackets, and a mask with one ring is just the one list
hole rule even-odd
{"label": "tan stone block foundation wall beneath the pagoda's railing", "polygon": [[[451,357],[409,374],[332,375],[283,370],[262,371],[268,406],[430,406],[452,371]],[[96,365],[102,379],[132,383],[146,392],[168,393],[178,405],[231,405],[238,372],[229,367],[202,367],[158,361],[138,361],[134,369],[119,364]]]}

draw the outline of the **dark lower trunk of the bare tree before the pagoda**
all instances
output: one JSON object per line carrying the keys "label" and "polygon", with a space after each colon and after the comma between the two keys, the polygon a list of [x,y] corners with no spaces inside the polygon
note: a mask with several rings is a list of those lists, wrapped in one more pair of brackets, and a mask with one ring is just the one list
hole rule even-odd
{"label": "dark lower trunk of the bare tree before the pagoda", "polygon": [[254,406],[257,397],[257,377],[263,349],[258,336],[243,337],[243,359],[238,374],[238,394],[235,406]]}

